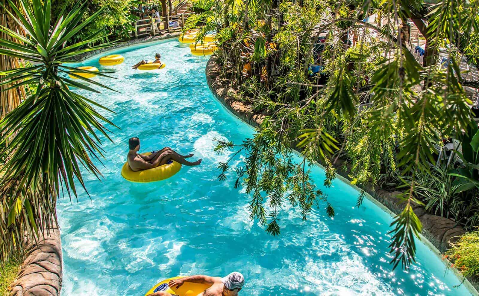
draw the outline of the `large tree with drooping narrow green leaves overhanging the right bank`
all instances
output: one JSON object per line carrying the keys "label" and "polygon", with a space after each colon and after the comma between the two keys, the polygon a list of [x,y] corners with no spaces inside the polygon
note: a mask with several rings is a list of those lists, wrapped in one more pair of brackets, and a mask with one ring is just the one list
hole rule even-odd
{"label": "large tree with drooping narrow green leaves overhanging the right bank", "polygon": [[[412,210],[421,204],[417,185],[424,174],[435,174],[434,144],[448,137],[461,139],[462,131],[473,125],[472,101],[463,86],[478,88],[479,81],[461,77],[458,64],[461,55],[476,55],[472,51],[478,45],[479,1],[424,5],[422,0],[249,0],[240,10],[223,8],[224,2],[216,1],[210,10],[191,18],[189,27],[204,22],[203,33],[217,31],[221,78],[239,90],[238,96],[255,112],[265,115],[256,135],[244,145],[217,147],[246,152],[236,184],[263,190],[251,190],[251,217],[268,225],[269,232],[279,233],[280,208],[289,194],[283,188],[298,176],[308,180],[308,164],[314,161],[325,165],[324,183],[329,185],[334,165],[341,160],[359,186],[390,186],[394,181],[396,186],[406,185],[400,197],[404,211],[391,224],[390,248],[394,267],[401,263],[407,268],[414,260],[414,236],[422,231]],[[373,14],[383,22],[366,22]],[[422,64],[411,54],[404,40],[407,34],[401,33],[407,20],[426,39]],[[317,46],[320,42],[322,46]],[[440,49],[452,60],[448,66],[436,65]],[[322,70],[312,75],[315,63]],[[285,173],[272,171],[270,163],[278,161],[273,154],[285,161],[293,153],[285,147],[303,153],[304,169],[293,164],[283,165]],[[229,165],[220,168],[224,179]],[[281,190],[262,186],[273,179],[278,186],[283,184]],[[308,196],[296,199],[304,218],[309,205],[323,198],[309,197],[318,192],[311,186],[295,193]],[[451,186],[447,190],[452,194],[457,188]],[[471,187],[460,195],[472,200],[475,192]],[[358,206],[363,198],[361,192]],[[262,214],[266,205],[272,208],[269,215]],[[428,209],[439,213],[438,206],[433,202]],[[476,215],[474,211],[469,217]],[[443,213],[449,212],[443,208]]]}

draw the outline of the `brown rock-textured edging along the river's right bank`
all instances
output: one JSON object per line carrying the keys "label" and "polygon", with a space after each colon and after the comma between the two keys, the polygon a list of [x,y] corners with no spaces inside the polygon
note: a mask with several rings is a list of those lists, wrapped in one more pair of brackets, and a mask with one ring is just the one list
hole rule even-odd
{"label": "brown rock-textured edging along the river's right bank", "polygon": [[[221,103],[221,105],[231,113],[233,116],[237,117],[239,120],[246,122],[252,128],[257,128],[265,118],[265,114],[254,114],[251,110],[251,107],[240,102],[234,94],[236,94],[235,90],[232,88],[225,88],[222,86],[220,81],[218,81],[219,73],[221,71],[221,66],[218,63],[218,59],[215,55],[212,55],[208,62],[206,63],[205,68],[205,76],[206,76],[206,83],[208,88],[210,89],[213,96]],[[300,155],[299,152],[294,150],[295,153]],[[316,163],[320,168],[324,169],[324,166]],[[347,178],[348,172],[344,172],[341,170],[337,171],[336,177],[340,179],[342,182],[348,184],[349,186],[353,187],[358,192],[361,191],[361,188],[358,186],[352,185],[351,181]],[[394,217],[398,210],[402,209],[402,205],[399,203],[399,199],[395,196],[400,192],[388,192],[381,188],[363,188],[365,191],[366,197],[373,202],[376,206],[387,212],[391,217]],[[373,197],[374,196],[374,197]],[[416,210],[422,210],[419,208],[415,208]],[[427,215],[427,216],[425,216]],[[443,259],[441,254],[442,252],[439,249],[444,249],[445,244],[448,241],[454,238],[455,236],[461,234],[461,232],[465,232],[462,228],[454,227],[455,223],[452,222],[450,219],[446,219],[444,217],[435,216],[431,214],[426,214],[422,210],[422,215],[418,215],[418,218],[421,220],[423,225],[429,225],[429,228],[424,227],[423,233],[420,234],[421,241],[436,255],[441,259],[441,262],[445,264],[446,267],[451,270],[456,277],[463,281],[463,285],[465,285],[471,295],[479,296],[479,283],[474,279],[464,278],[464,276],[455,268],[450,267],[450,262],[447,259]],[[431,221],[433,219],[433,221]],[[441,226],[446,225],[447,230],[444,228],[434,228],[434,225],[431,225],[431,222],[440,221]],[[446,221],[447,220],[447,221]],[[452,227],[451,227],[452,226]],[[433,231],[442,231],[442,233],[431,233],[430,230]],[[462,231],[460,231],[462,230]],[[449,232],[449,233],[448,233]],[[446,237],[446,233],[448,233]],[[451,235],[453,234],[453,235]],[[434,238],[440,236],[443,239],[435,240]],[[431,239],[432,238],[432,239]],[[446,238],[446,239],[444,239]]]}

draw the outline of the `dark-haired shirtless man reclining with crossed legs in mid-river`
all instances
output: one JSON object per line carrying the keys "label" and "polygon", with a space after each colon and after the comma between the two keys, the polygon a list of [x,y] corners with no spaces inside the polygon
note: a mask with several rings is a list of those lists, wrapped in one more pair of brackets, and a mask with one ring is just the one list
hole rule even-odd
{"label": "dark-haired shirtless man reclining with crossed legs in mid-river", "polygon": [[138,150],[140,150],[140,139],[137,137],[130,138],[130,140],[128,140],[128,146],[130,147],[130,151],[128,152],[126,161],[130,165],[131,170],[134,172],[148,170],[150,168],[167,164],[170,160],[174,160],[185,165],[201,164],[201,158],[193,163],[185,160],[185,158],[192,157],[193,153],[188,155],[180,155],[171,150],[170,147],[165,147],[158,152],[151,153],[148,156],[138,154]]}

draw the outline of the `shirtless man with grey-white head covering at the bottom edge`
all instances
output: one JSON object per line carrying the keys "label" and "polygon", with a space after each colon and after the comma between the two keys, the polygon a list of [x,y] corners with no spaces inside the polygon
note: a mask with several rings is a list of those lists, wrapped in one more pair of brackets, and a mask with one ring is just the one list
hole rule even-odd
{"label": "shirtless man with grey-white head covering at the bottom edge", "polygon": [[[244,285],[244,277],[239,272],[228,274],[225,277],[193,275],[176,280],[171,280],[168,285],[178,289],[185,282],[211,285],[198,296],[238,296],[238,292]],[[158,291],[148,296],[183,296],[174,295],[164,291]]]}

